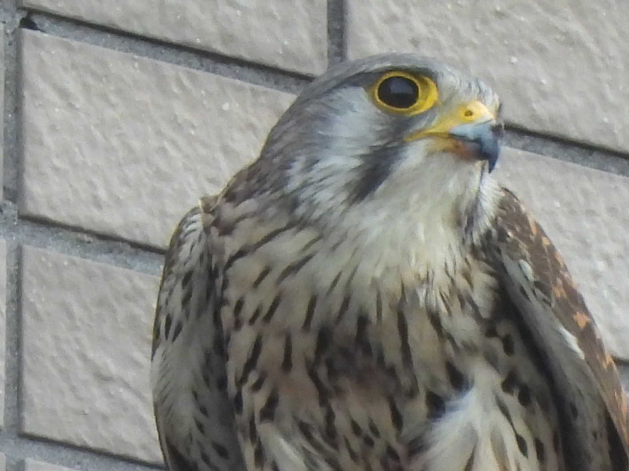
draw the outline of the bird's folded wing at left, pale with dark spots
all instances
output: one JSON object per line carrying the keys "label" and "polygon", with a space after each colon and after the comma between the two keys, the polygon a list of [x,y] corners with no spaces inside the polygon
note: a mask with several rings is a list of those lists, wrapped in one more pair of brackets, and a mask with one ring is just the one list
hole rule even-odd
{"label": "bird's folded wing at left, pale with dark spots", "polygon": [[226,393],[220,273],[204,222],[215,198],[201,200],[170,239],[153,326],[151,382],[160,445],[171,471],[243,470]]}

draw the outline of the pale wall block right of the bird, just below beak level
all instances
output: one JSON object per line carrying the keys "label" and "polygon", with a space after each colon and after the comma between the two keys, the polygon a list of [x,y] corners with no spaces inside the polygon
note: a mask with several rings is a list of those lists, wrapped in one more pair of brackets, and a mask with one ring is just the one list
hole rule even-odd
{"label": "pale wall block right of the bird, just below beak level", "polygon": [[629,360],[629,178],[509,148],[496,175],[559,249],[613,354]]}

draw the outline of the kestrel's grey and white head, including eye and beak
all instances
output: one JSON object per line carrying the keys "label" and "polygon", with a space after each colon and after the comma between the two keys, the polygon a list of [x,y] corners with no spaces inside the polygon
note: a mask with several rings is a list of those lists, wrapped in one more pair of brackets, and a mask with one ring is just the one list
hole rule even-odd
{"label": "kestrel's grey and white head, including eye and beak", "polygon": [[319,224],[416,221],[424,239],[439,237],[429,226],[465,232],[491,200],[484,187],[498,159],[499,113],[481,80],[427,58],[343,63],[299,95],[250,176],[260,194]]}

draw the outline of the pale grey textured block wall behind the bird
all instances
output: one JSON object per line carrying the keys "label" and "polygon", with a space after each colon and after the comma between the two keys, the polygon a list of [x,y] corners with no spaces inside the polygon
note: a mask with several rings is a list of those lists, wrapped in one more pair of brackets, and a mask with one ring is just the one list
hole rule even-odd
{"label": "pale grey textured block wall behind the bird", "polygon": [[629,4],[1,0],[0,471],[162,467],[165,245],[328,65],[419,51],[504,97],[498,175],[629,361]]}

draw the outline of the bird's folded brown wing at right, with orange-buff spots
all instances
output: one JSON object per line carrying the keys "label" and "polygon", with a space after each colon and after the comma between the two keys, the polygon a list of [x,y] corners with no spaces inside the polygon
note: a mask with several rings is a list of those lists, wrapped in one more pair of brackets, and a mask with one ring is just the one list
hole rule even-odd
{"label": "bird's folded brown wing at right, with orange-buff spots", "polygon": [[625,391],[564,261],[508,190],[499,202],[494,235],[504,286],[553,377],[574,469],[628,469]]}

